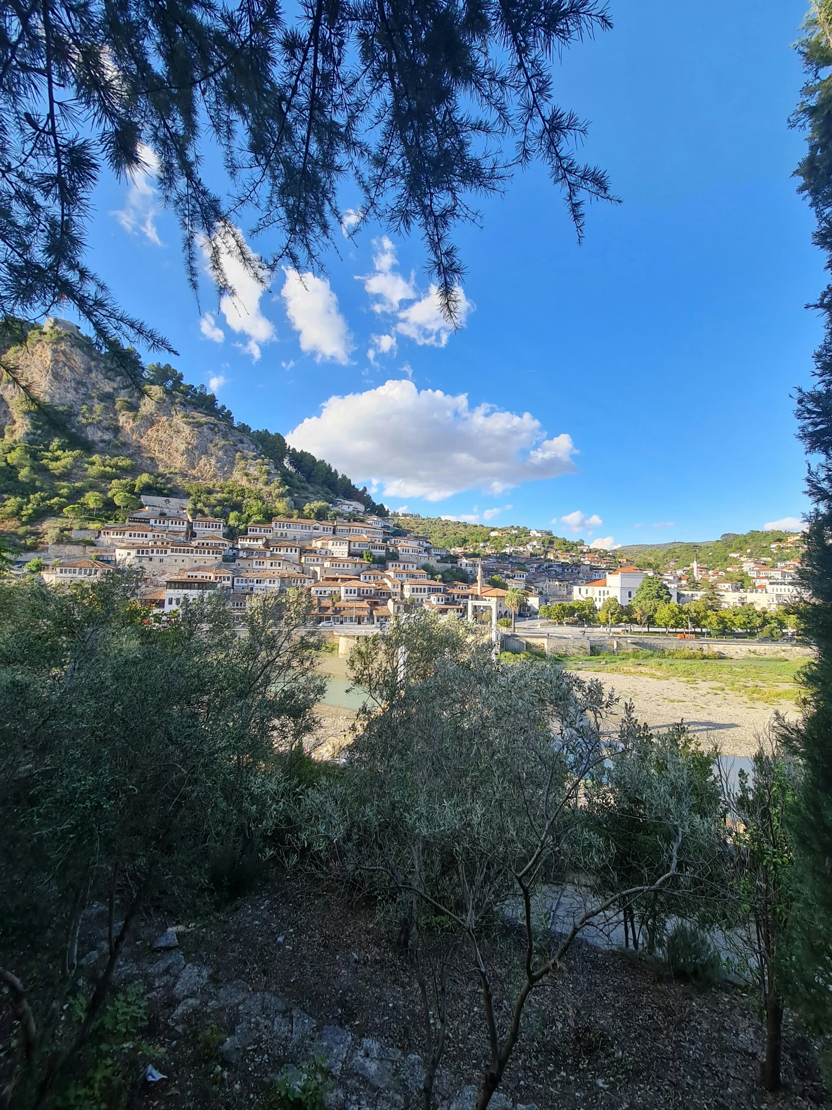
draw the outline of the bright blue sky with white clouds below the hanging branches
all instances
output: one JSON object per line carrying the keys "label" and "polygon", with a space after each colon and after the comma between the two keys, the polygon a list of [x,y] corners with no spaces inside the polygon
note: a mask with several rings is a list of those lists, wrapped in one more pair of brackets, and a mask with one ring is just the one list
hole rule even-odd
{"label": "bright blue sky with white clouds below the hanging branches", "polygon": [[197,306],[152,179],[102,183],[92,261],[187,381],[392,506],[616,543],[798,517],[790,394],[824,284],[791,176],[804,11],[612,0],[615,29],[565,56],[558,87],[622,203],[591,206],[579,246],[545,172],[519,175],[458,233],[454,334],[420,243],[378,228],[344,239],[327,282],[280,273],[223,312],[206,278]]}

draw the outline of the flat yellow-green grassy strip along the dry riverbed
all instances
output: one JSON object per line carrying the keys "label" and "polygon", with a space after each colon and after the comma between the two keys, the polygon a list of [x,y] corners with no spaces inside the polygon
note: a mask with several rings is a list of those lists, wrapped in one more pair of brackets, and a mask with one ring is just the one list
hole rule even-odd
{"label": "flat yellow-green grassy strip along the dry riverbed", "polygon": [[750,702],[777,705],[800,696],[799,674],[804,659],[679,659],[633,652],[618,656],[587,656],[568,662],[570,670],[676,679],[691,688],[708,684],[716,693],[730,693]]}

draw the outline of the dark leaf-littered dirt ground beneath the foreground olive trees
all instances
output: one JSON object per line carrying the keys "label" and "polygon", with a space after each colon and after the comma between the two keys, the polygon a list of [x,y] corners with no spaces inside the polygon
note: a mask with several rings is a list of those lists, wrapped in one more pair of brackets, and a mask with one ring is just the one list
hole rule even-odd
{"label": "dark leaf-littered dirt ground beneath the foreground olive trees", "polygon": [[[345,899],[334,885],[304,876],[277,879],[237,904],[226,920],[217,916],[180,940],[185,959],[209,965],[217,982],[243,979],[356,1037],[377,1038],[402,1052],[423,1049],[414,969],[397,946],[395,924],[379,921],[372,906]],[[476,1083],[485,1061],[481,1010],[466,955],[460,952],[451,979],[445,1063],[455,1083]],[[521,959],[517,939],[508,930],[495,935],[486,958],[498,979],[510,983]],[[202,1110],[262,1098],[264,1068],[252,1059],[224,1072],[211,1046],[231,1029],[206,1036],[200,1022],[200,1011],[179,1033],[160,1022],[156,1033],[172,1083],[142,1101]],[[785,1087],[769,1096],[758,1084],[762,1029],[743,993],[700,992],[632,953],[578,944],[558,977],[528,1005],[501,1090],[538,1110],[819,1104],[823,1091],[812,1046],[787,1025]]]}

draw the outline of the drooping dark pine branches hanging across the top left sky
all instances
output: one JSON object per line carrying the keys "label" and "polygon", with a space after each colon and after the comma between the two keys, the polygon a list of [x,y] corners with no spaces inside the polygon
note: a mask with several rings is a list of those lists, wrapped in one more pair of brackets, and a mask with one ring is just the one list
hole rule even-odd
{"label": "drooping dark pine branches hanging across the top left sky", "polygon": [[[454,319],[451,241],[539,159],[580,234],[606,175],[580,163],[586,127],[554,100],[570,43],[609,28],[603,0],[8,0],[0,16],[0,316],[73,305],[100,342],[165,347],[85,264],[106,169],[153,170],[196,286],[236,259],[257,280],[319,266],[373,220],[418,230]],[[224,171],[224,176],[223,176]],[[342,184],[361,198],[343,212]],[[241,224],[266,236],[258,259]]]}

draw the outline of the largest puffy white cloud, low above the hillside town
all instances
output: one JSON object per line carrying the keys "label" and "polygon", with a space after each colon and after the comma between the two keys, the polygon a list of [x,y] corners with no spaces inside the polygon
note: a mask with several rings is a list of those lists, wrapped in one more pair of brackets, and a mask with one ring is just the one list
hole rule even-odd
{"label": "largest puffy white cloud, low above the hillside town", "polygon": [[530,413],[470,408],[465,393],[419,391],[399,380],[329,397],[322,407],[288,442],[354,480],[376,480],[386,496],[440,501],[473,488],[498,495],[575,470],[568,435],[547,440]]}

